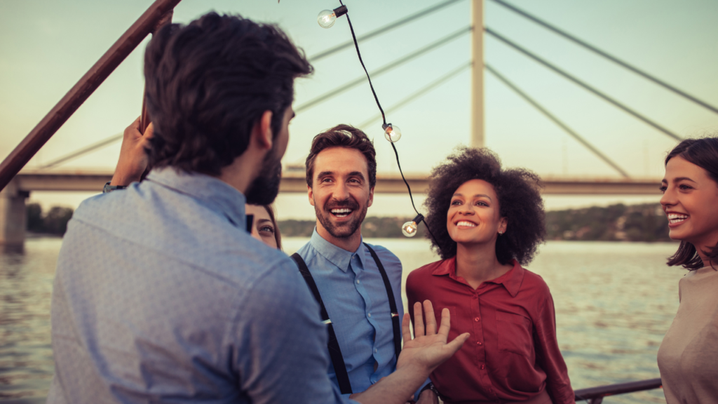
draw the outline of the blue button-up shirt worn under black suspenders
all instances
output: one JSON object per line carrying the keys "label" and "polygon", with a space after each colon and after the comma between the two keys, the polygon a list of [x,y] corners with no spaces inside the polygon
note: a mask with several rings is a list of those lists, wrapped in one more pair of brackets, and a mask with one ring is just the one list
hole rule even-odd
{"label": "blue button-up shirt worn under black suspenders", "polygon": [[[401,319],[401,261],[388,249],[370,245],[389,278]],[[362,392],[396,369],[391,308],[381,272],[363,243],[350,252],[327,242],[317,229],[297,253],[332,320],[352,390]],[[333,364],[329,377],[338,388]]]}

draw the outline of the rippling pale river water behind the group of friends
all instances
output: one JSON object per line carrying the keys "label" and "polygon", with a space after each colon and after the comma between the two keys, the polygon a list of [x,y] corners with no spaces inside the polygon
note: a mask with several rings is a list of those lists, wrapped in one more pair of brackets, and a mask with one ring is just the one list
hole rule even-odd
{"label": "rippling pale river water behind the group of friends", "polygon": [[[307,239],[286,238],[289,254]],[[437,260],[423,239],[368,239],[411,271]],[[50,294],[61,239],[28,239],[0,252],[0,403],[44,403],[54,371]],[[656,352],[678,309],[684,270],[671,243],[548,242],[528,269],[554,296],[559,346],[574,389],[658,377]],[[404,288],[402,288],[403,290]],[[403,295],[406,302],[406,295]],[[406,306],[406,304],[405,304]],[[406,308],[405,308],[406,309]],[[665,403],[662,390],[604,403]]]}

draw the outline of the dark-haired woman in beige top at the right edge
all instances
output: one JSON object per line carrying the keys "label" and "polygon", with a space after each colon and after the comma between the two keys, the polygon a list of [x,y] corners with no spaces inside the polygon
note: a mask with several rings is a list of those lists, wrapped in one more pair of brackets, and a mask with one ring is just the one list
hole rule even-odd
{"label": "dark-haired woman in beige top at the right edge", "polygon": [[666,157],[661,206],[681,245],[668,265],[689,272],[658,349],[668,404],[718,403],[718,137],[686,139]]}

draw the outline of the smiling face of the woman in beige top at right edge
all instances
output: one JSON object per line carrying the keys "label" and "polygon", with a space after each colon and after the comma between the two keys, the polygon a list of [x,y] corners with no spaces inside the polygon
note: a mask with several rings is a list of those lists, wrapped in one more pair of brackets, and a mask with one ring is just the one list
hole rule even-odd
{"label": "smiling face of the woman in beige top at right edge", "polygon": [[668,216],[668,236],[696,247],[718,243],[718,184],[703,168],[673,157],[661,181],[661,206]]}

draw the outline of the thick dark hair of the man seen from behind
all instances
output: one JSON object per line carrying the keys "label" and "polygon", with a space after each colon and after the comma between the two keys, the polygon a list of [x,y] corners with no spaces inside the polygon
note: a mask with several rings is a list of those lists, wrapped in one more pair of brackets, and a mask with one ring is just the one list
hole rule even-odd
{"label": "thick dark hair of the man seen from behind", "polygon": [[309,73],[304,53],[274,25],[209,13],[163,27],[144,56],[150,166],[219,175],[245,152],[264,111],[276,137],[294,78]]}

